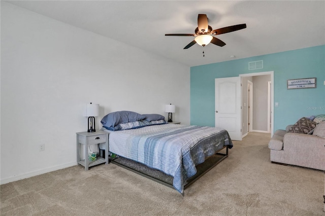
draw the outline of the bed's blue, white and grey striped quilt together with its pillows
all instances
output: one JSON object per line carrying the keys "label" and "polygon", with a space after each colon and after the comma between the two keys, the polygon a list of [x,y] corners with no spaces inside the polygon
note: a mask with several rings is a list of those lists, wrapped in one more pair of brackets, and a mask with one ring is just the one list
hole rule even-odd
{"label": "bed's blue, white and grey striped quilt together with its pillows", "polygon": [[[184,195],[186,179],[197,173],[196,166],[224,148],[233,147],[222,128],[167,124],[158,114],[120,111],[102,119],[109,131],[109,152],[173,177],[173,187]],[[100,146],[100,149],[104,149]]]}

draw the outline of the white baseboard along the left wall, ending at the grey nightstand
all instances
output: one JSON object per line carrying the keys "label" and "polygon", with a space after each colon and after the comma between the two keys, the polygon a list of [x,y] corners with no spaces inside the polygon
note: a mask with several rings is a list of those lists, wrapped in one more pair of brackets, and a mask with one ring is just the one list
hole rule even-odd
{"label": "white baseboard along the left wall, ending at the grey nightstand", "polygon": [[39,169],[39,170],[36,170],[36,171],[11,176],[11,177],[8,177],[8,178],[2,178],[2,179],[0,179],[0,185],[7,184],[7,183],[10,183],[10,182],[16,182],[16,181],[24,179],[24,178],[29,178],[29,177],[32,177],[32,176],[36,176],[36,175],[40,175],[40,174],[44,174],[44,173],[47,173],[47,172],[52,172],[52,171],[55,171],[55,170],[58,170],[58,169],[64,169],[64,168],[71,167],[71,166],[76,166],[76,165],[77,165],[77,162],[70,162],[70,163],[60,164],[58,166],[52,166],[52,167],[48,167],[48,168],[45,168],[45,169]]}

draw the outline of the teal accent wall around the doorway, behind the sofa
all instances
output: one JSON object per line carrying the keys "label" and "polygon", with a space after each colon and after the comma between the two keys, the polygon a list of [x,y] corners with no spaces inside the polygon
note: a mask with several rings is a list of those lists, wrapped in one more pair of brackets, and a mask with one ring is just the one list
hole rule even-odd
{"label": "teal accent wall around the doorway, behind the sofa", "polygon": [[[263,69],[248,62],[263,60]],[[190,68],[190,123],[214,127],[214,79],[274,71],[274,131],[304,116],[325,114],[325,45]],[[287,89],[290,79],[316,78],[316,88]]]}

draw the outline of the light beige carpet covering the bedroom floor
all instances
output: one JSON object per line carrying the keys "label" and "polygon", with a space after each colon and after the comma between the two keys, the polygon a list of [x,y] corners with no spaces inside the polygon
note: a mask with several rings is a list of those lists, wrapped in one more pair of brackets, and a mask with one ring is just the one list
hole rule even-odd
{"label": "light beige carpet covering the bedroom floor", "polygon": [[114,164],[74,166],[2,185],[1,215],[324,215],[324,173],[272,164],[269,139],[234,141],[184,197]]}

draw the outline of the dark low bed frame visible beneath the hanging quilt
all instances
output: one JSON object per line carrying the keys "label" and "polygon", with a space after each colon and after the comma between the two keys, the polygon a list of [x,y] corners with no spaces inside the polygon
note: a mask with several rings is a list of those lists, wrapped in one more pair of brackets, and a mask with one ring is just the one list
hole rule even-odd
{"label": "dark low bed frame visible beneath the hanging quilt", "polygon": [[[225,149],[225,153],[220,153],[224,149]],[[213,167],[215,167],[217,164],[219,164],[227,157],[228,157],[228,146],[224,146],[222,149],[217,151],[214,155],[207,157],[205,162],[203,162],[202,164],[198,164],[196,166],[198,172],[184,182],[184,190],[188,188],[191,184],[196,182],[200,177],[202,177],[205,173],[207,173],[209,170],[211,170]],[[123,157],[115,157],[109,159],[109,161],[117,166],[133,171],[157,183],[163,184],[167,187],[174,189],[173,177],[159,170],[149,168],[144,164],[129,159],[125,159]]]}

